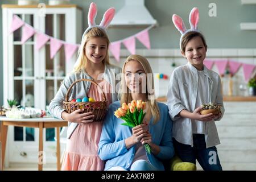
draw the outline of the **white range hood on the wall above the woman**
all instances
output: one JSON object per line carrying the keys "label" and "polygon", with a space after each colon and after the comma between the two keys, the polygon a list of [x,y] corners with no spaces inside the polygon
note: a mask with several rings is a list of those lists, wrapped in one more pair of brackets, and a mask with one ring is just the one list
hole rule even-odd
{"label": "white range hood on the wall above the woman", "polygon": [[157,21],[144,6],[144,0],[125,0],[125,6],[115,13],[109,27],[144,27],[156,24]]}

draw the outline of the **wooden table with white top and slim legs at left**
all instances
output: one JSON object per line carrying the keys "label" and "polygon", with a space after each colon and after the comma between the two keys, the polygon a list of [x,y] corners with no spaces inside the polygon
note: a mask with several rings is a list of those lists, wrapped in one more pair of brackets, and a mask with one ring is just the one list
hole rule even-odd
{"label": "wooden table with white top and slim legs at left", "polygon": [[[0,117],[1,128],[0,128],[0,143],[2,143],[2,164],[3,168],[4,159],[5,159],[5,148],[6,148],[6,139],[7,139],[7,130],[8,126],[19,126],[19,127],[34,127],[39,128],[39,155],[38,155],[38,170],[43,170],[43,164],[40,161],[43,161],[43,129],[56,127],[57,129],[57,170],[60,170],[60,127],[68,126],[67,121],[63,121],[55,118],[30,118],[30,119],[13,119]],[[1,148],[1,147],[0,147]],[[1,162],[1,160],[0,160]],[[0,167],[0,168],[1,168]]]}

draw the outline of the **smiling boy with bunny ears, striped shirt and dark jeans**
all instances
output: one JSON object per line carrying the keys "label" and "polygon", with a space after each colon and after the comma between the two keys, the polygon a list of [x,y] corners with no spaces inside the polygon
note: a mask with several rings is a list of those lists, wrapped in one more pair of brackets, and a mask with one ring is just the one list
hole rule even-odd
{"label": "smiling boy with bunny ears, striped shirt and dark jeans", "polygon": [[[172,73],[167,94],[169,114],[174,121],[174,147],[183,162],[196,164],[197,159],[204,170],[222,170],[215,147],[220,140],[214,123],[224,114],[221,80],[203,64],[207,44],[197,30],[199,12],[196,8],[189,18],[191,29],[186,30],[183,20],[172,16],[181,32],[181,54],[188,60]],[[221,113],[201,115],[201,105],[209,102],[220,106]]]}

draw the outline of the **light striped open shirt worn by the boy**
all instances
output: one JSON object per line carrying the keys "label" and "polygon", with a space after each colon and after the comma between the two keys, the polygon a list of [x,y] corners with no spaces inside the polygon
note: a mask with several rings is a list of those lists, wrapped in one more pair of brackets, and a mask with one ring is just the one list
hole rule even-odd
{"label": "light striped open shirt worn by the boy", "polygon": [[[204,66],[204,75],[207,76],[207,102],[216,102],[221,105],[221,117],[224,114],[223,98],[221,94],[220,76]],[[189,118],[179,116],[181,110],[193,112],[196,109],[197,93],[199,89],[199,76],[197,69],[191,63],[177,67],[172,73],[167,93],[169,114],[174,121],[172,128],[173,137],[180,143],[193,146],[192,122]],[[205,122],[205,142],[208,147],[220,144],[218,132],[214,121]]]}

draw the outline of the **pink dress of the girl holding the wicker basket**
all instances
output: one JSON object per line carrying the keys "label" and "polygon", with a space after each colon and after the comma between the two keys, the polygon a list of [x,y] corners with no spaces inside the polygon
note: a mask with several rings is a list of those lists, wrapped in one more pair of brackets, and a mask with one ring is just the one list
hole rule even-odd
{"label": "pink dress of the girl holding the wicker basket", "polygon": [[[103,80],[98,85],[104,90],[108,105],[112,101],[110,84]],[[91,84],[88,97],[102,101],[102,94],[97,86]],[[63,158],[61,170],[68,171],[102,171],[104,161],[98,157],[98,142],[100,142],[103,122],[86,123],[78,125],[71,138],[67,140],[67,147]]]}

